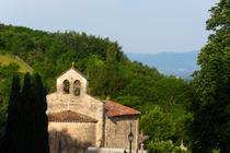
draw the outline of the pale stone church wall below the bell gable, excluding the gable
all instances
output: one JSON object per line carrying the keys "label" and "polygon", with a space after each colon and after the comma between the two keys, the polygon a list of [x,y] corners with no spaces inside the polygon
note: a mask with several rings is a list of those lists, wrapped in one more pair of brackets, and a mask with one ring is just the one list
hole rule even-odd
{"label": "pale stone church wall below the bell gable, excluding the gable", "polygon": [[71,94],[53,93],[47,95],[47,114],[72,110],[96,119],[95,146],[103,145],[104,103],[87,94],[84,96],[74,96]]}

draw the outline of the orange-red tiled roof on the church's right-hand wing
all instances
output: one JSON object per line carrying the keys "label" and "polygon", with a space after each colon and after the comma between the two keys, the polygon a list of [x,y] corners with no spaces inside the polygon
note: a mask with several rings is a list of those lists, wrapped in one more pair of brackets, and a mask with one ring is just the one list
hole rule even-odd
{"label": "orange-red tiled roof on the church's right-hand wing", "polygon": [[105,101],[105,109],[106,116],[108,117],[136,116],[140,114],[139,110],[133,109],[112,101]]}

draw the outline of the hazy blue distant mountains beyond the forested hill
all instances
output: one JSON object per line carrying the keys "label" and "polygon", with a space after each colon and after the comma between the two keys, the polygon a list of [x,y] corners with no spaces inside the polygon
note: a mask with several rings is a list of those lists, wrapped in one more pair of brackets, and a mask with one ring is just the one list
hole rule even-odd
{"label": "hazy blue distant mountains beyond the forested hill", "polygon": [[199,51],[189,52],[159,52],[159,54],[126,54],[133,61],[156,67],[161,73],[192,79],[192,73],[198,70],[197,56]]}

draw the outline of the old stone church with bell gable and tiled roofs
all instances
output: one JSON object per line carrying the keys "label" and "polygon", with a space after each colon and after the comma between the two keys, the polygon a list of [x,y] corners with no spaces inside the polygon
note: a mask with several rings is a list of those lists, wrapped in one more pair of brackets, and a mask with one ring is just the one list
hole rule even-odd
{"label": "old stone church with bell gable and tiled roofs", "polygon": [[138,149],[140,111],[87,92],[85,76],[70,68],[57,78],[57,91],[47,95],[50,153],[81,152],[89,146]]}

